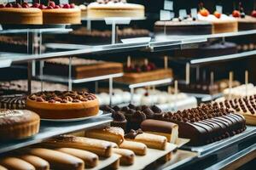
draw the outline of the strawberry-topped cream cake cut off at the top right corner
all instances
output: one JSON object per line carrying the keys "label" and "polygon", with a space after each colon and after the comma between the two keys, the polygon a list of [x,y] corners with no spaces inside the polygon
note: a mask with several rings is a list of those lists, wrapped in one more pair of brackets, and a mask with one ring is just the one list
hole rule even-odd
{"label": "strawberry-topped cream cake cut off at the top right corner", "polygon": [[241,3],[239,4],[239,10],[234,10],[232,16],[238,20],[238,30],[254,30],[256,29],[256,10],[253,9],[251,14],[245,14]]}

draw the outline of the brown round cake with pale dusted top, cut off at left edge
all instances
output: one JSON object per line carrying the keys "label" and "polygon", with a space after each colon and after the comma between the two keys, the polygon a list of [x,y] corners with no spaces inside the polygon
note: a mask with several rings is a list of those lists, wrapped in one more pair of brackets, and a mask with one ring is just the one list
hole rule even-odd
{"label": "brown round cake with pale dusted top, cut off at left edge", "polygon": [[38,133],[39,124],[32,111],[0,109],[0,140],[26,139]]}

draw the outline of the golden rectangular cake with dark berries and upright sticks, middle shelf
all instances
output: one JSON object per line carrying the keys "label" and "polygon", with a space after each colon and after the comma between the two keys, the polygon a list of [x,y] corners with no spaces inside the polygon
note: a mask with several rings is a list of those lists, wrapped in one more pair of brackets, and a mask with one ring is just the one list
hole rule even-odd
{"label": "golden rectangular cake with dark berries and upright sticks, middle shelf", "polygon": [[141,64],[131,64],[131,58],[128,57],[125,65],[125,74],[123,77],[117,78],[118,82],[138,83],[160,80],[172,77],[172,70],[165,68],[157,68],[154,63],[149,63],[148,59]]}

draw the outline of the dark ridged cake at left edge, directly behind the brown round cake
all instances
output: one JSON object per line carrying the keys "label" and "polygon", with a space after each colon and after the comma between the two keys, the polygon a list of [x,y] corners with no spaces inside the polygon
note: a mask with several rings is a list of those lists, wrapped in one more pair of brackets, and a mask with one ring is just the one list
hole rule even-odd
{"label": "dark ridged cake at left edge, directly behind the brown round cake", "polygon": [[23,110],[26,107],[26,95],[0,96],[0,108]]}

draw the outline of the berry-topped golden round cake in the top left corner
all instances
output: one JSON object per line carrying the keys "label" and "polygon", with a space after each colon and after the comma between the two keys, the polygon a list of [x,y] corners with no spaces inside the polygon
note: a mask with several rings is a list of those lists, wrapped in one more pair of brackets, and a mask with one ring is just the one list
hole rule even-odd
{"label": "berry-topped golden round cake in the top left corner", "polygon": [[3,25],[41,25],[42,10],[30,7],[28,3],[0,4],[0,24]]}

